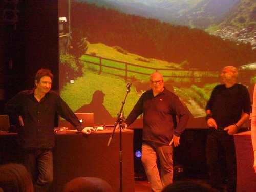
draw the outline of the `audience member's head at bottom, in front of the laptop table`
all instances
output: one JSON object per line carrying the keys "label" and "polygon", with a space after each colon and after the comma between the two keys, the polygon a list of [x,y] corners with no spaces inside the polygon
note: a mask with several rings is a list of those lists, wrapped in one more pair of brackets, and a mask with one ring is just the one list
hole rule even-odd
{"label": "audience member's head at bottom, in front of the laptop table", "polygon": [[100,178],[77,177],[65,185],[63,192],[113,192],[113,190]]}

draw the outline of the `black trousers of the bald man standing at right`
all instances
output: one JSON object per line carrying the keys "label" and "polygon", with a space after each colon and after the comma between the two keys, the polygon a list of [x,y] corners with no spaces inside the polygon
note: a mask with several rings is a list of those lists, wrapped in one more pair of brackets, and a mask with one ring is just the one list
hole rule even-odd
{"label": "black trousers of the bald man standing at right", "polygon": [[[220,150],[223,150],[220,153]],[[237,161],[234,138],[226,131],[210,129],[207,135],[206,158],[209,170],[210,184],[222,191],[222,174],[220,154],[225,156],[227,171],[227,191],[236,191],[237,185]],[[223,165],[223,164],[222,164]]]}

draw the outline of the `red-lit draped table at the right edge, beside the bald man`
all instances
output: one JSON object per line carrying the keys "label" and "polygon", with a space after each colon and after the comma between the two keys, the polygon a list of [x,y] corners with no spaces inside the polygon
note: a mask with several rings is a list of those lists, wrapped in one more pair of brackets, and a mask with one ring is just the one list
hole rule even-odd
{"label": "red-lit draped table at the right edge, beside the bald man", "polygon": [[237,192],[256,191],[256,173],[253,168],[251,131],[234,134],[237,155]]}

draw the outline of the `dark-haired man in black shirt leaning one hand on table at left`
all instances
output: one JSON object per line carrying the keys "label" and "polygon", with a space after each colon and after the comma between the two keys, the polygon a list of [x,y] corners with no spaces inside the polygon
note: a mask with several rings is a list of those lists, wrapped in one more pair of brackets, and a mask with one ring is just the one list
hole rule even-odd
{"label": "dark-haired man in black shirt leaning one hand on table at left", "polygon": [[31,174],[35,191],[47,191],[53,181],[54,122],[58,114],[79,132],[90,134],[82,127],[69,106],[51,91],[53,74],[40,69],[35,75],[35,88],[22,91],[6,103],[6,112],[19,119],[18,144],[24,165]]}

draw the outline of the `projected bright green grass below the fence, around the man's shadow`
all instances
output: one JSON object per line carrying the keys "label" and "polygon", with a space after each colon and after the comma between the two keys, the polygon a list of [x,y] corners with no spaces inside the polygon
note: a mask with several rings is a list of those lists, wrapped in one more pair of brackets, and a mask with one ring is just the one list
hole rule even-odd
{"label": "projected bright green grass below the fence, around the man's shadow", "polygon": [[[96,90],[100,90],[105,94],[104,106],[112,117],[116,117],[127,93],[124,79],[108,74],[98,75],[95,72],[86,70],[83,77],[77,78],[72,84],[67,83],[65,88],[61,90],[60,95],[70,108],[76,111],[82,105],[91,102],[92,95]],[[139,96],[132,86],[125,101],[125,114],[128,114],[132,110]]]}

